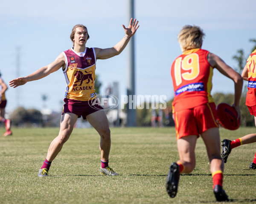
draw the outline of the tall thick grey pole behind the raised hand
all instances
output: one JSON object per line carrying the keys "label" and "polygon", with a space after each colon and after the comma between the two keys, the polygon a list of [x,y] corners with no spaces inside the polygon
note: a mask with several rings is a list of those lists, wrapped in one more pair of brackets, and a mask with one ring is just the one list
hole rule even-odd
{"label": "tall thick grey pole behind the raised hand", "polygon": [[[128,22],[134,18],[134,0],[128,0]],[[127,62],[127,126],[136,126],[136,96],[135,96],[135,49],[134,36],[131,37],[128,44],[128,62]]]}

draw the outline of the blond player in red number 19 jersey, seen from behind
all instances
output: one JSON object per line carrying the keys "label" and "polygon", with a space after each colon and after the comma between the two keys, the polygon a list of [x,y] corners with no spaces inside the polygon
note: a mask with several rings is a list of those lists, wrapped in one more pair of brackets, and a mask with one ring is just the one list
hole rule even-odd
{"label": "blond player in red number 19 jersey, seen from behind", "polygon": [[202,137],[211,164],[213,192],[217,201],[228,201],[222,189],[224,163],[217,112],[210,91],[213,68],[235,83],[234,108],[240,117],[239,101],[243,80],[236,71],[221,58],[201,49],[204,32],[198,26],[184,26],[178,34],[183,52],[172,63],[171,76],[175,97],[172,102],[180,159],[173,162],[166,179],[166,190],[170,197],[177,193],[180,173],[191,173],[195,168],[195,145]]}

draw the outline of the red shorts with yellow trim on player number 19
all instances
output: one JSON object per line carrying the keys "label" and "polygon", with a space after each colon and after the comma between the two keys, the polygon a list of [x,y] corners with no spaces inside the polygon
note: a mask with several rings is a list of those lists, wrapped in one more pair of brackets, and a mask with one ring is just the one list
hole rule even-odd
{"label": "red shorts with yellow trim on player number 19", "polygon": [[177,140],[188,135],[203,133],[212,127],[218,127],[215,103],[206,103],[195,108],[174,112]]}

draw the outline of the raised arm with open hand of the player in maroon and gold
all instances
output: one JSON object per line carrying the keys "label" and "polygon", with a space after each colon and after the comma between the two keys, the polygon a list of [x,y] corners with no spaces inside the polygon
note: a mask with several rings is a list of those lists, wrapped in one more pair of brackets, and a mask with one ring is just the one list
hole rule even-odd
{"label": "raised arm with open hand of the player in maroon and gold", "polygon": [[118,54],[120,54],[128,42],[130,41],[130,38],[135,34],[137,29],[140,27],[138,26],[138,21],[136,21],[136,18],[132,22],[133,18],[130,20],[129,26],[126,28],[124,25],[122,27],[124,28],[125,31],[125,37],[119,41],[115,46],[112,48],[95,48],[95,53],[96,53],[96,59],[108,59],[111,57],[114,57]]}

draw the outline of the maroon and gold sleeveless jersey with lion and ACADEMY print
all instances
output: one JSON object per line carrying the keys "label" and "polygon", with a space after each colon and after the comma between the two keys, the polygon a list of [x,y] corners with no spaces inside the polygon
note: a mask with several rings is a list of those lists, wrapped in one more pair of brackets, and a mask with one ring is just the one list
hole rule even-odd
{"label": "maroon and gold sleeveless jersey with lion and ACADEMY print", "polygon": [[77,53],[70,48],[62,53],[66,59],[66,67],[63,70],[67,82],[65,98],[79,101],[94,99],[96,97],[94,48],[85,48],[82,53]]}

